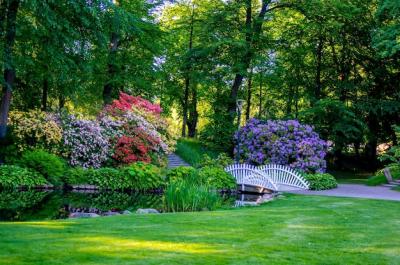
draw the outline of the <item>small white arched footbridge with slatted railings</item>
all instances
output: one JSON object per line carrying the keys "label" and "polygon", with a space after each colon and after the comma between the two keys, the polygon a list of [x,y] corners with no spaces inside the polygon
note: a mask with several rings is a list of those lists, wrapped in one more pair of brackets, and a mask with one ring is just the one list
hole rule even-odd
{"label": "small white arched footbridge with slatted railings", "polygon": [[246,187],[255,187],[262,191],[290,191],[309,189],[308,182],[290,167],[269,164],[253,166],[249,164],[233,164],[225,168],[233,175],[237,185],[244,191]]}

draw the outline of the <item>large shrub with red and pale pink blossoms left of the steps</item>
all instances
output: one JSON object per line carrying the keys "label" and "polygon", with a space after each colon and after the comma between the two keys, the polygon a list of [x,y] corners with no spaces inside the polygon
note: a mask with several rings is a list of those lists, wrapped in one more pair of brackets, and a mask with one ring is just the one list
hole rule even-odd
{"label": "large shrub with red and pale pink blossoms left of the steps", "polygon": [[160,161],[171,144],[167,123],[160,113],[159,105],[125,93],[107,105],[99,121],[106,134],[115,139],[112,158],[120,164]]}

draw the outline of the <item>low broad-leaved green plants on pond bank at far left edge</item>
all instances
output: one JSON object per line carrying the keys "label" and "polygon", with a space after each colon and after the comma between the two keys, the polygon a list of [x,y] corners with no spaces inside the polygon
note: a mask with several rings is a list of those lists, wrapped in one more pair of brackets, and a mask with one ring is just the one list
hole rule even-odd
{"label": "low broad-leaved green plants on pond bank at far left edge", "polygon": [[32,188],[47,184],[46,179],[36,171],[19,166],[0,166],[0,187],[18,188],[21,186]]}

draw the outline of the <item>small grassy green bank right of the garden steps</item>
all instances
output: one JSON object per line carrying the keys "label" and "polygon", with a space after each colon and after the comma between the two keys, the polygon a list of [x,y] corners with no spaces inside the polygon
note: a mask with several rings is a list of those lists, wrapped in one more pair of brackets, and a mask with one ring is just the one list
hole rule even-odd
{"label": "small grassy green bank right of the garden steps", "polygon": [[210,150],[196,139],[181,138],[176,144],[175,153],[191,166],[197,166],[204,155],[216,158],[219,152]]}

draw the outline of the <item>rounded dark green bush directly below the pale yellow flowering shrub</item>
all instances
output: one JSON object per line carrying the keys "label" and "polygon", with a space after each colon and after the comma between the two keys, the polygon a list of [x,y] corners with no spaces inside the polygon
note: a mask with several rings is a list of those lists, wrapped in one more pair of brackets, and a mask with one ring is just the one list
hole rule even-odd
{"label": "rounded dark green bush directly below the pale yellow flowering shrub", "polygon": [[36,170],[52,184],[60,184],[61,177],[65,172],[64,161],[43,150],[25,152],[18,164]]}

